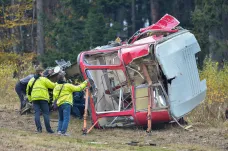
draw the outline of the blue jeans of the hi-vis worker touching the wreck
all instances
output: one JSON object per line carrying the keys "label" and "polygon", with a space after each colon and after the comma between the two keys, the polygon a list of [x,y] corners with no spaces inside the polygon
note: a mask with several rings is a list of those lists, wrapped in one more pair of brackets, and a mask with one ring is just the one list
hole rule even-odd
{"label": "blue jeans of the hi-vis worker touching the wreck", "polygon": [[62,134],[66,133],[68,124],[70,122],[70,111],[71,105],[64,103],[59,106],[59,122],[58,122],[58,131],[61,131]]}

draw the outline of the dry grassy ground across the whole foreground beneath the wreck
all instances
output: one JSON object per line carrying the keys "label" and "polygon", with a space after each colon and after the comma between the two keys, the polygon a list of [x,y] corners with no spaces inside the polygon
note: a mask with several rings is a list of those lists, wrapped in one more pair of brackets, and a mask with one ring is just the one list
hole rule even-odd
{"label": "dry grassy ground across the whole foreground beneath the wreck", "polygon": [[[51,125],[56,129],[56,113],[51,115]],[[91,133],[83,136],[82,125],[82,120],[72,117],[68,130],[71,135],[67,138],[46,132],[35,134],[32,114],[21,116],[15,109],[0,108],[0,148],[1,150],[52,150],[54,146],[55,150],[228,150],[226,126],[212,128],[196,123],[187,131],[174,124],[167,124],[162,127],[156,126],[150,135],[143,128],[93,129]],[[42,141],[37,141],[38,136]],[[45,142],[42,144],[44,140],[50,144],[45,145]],[[56,147],[56,142],[52,142],[53,140],[63,145],[59,144],[59,147]],[[76,140],[76,146],[72,140]],[[28,141],[34,145],[31,146]],[[39,144],[42,144],[42,147]]]}

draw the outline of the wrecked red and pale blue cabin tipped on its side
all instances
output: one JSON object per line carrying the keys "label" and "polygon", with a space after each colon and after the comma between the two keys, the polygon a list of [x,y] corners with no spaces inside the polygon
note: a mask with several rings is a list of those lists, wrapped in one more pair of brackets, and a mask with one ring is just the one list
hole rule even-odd
{"label": "wrecked red and pale blue cabin tipped on its side", "polygon": [[165,15],[140,29],[127,44],[82,52],[78,63],[90,82],[96,127],[177,121],[206,96],[195,55],[195,36]]}

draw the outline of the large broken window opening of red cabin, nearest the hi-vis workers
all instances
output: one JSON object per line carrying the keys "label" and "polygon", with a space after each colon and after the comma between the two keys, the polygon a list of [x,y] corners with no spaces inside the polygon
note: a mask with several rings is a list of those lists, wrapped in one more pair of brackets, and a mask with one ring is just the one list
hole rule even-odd
{"label": "large broken window opening of red cabin, nearest the hi-vis workers", "polygon": [[93,100],[97,113],[128,110],[132,107],[131,88],[122,70],[87,70],[93,81]]}

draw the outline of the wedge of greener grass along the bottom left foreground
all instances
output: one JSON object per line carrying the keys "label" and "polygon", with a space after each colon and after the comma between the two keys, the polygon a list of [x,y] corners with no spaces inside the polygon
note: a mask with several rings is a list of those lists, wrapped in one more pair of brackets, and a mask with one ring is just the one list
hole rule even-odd
{"label": "wedge of greener grass along the bottom left foreground", "polygon": [[[91,137],[92,136],[92,137]],[[169,151],[161,147],[128,146],[123,142],[100,141],[91,136],[58,136],[51,134],[35,134],[33,132],[0,128],[0,146],[3,150],[144,150]],[[106,136],[107,138],[107,136]]]}

